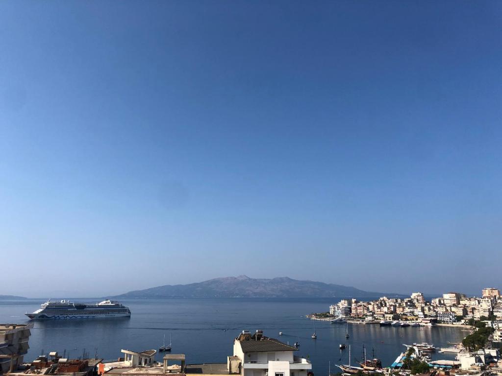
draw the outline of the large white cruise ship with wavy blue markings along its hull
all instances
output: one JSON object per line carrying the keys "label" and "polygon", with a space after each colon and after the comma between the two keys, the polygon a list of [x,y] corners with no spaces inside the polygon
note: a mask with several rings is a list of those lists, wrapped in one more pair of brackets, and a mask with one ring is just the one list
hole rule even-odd
{"label": "large white cruise ship with wavy blue markings along its hull", "polygon": [[129,307],[114,300],[103,300],[95,304],[73,303],[68,300],[49,301],[40,309],[26,313],[32,320],[56,318],[130,317]]}

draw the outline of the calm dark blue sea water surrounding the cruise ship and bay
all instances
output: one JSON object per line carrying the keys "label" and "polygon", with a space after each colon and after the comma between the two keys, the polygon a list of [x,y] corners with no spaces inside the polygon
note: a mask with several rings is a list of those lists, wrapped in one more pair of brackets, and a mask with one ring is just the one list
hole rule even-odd
{"label": "calm dark blue sea water surrounding the cruise ship and bay", "polygon": [[[73,300],[73,299],[72,299]],[[100,299],[75,299],[96,302]],[[339,298],[336,301],[340,300]],[[364,300],[364,299],[361,299]],[[0,300],[0,322],[26,323],[25,312],[40,308],[44,300]],[[226,363],[232,355],[233,338],[243,330],[263,329],[264,334],[293,344],[300,342],[298,355],[309,356],[314,373],[326,375],[328,362],[348,361],[348,351],[340,351],[340,343],[351,344],[352,361],[361,359],[362,345],[367,356],[374,354],[390,365],[405,347],[403,343],[431,342],[448,346],[448,341],[459,342],[467,334],[453,327],[391,327],[380,325],[349,325],[350,338],[345,339],[345,324],[316,321],[317,340],[310,338],[314,321],[306,314],[325,312],[333,299],[162,299],[122,300],[131,308],[131,318],[78,319],[35,321],[30,338],[30,351],[25,359],[32,360],[42,351],[65,349],[71,357],[82,352],[114,359],[120,349],[142,351],[158,348],[166,334],[171,334],[173,353],[185,353],[187,363]],[[452,355],[435,354],[436,359],[452,359]],[[161,356],[157,356],[160,360]]]}

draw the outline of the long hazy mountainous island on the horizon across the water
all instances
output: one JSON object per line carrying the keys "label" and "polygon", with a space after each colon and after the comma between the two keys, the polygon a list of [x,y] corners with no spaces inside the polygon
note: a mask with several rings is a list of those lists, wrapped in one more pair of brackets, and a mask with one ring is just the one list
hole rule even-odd
{"label": "long hazy mountainous island on the horizon across the water", "polygon": [[288,277],[272,279],[223,277],[186,285],[164,285],[129,291],[113,298],[332,298],[403,296],[356,289],[332,283],[299,281]]}

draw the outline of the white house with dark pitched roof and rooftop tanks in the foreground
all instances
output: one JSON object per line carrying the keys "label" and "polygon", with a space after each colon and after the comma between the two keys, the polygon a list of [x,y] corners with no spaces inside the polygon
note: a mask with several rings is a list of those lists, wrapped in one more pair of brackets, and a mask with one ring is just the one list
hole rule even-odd
{"label": "white house with dark pitched roof and rooftop tanks in the foreground", "polygon": [[263,335],[243,330],[233,343],[233,355],[240,359],[242,376],[307,376],[309,360],[295,356],[297,348]]}

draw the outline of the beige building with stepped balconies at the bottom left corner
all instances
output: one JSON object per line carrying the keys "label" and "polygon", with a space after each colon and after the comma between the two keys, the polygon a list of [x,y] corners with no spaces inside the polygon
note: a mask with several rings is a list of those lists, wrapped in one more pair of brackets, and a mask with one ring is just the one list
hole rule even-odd
{"label": "beige building with stepped balconies at the bottom left corner", "polygon": [[0,324],[0,373],[18,369],[28,352],[33,324]]}

